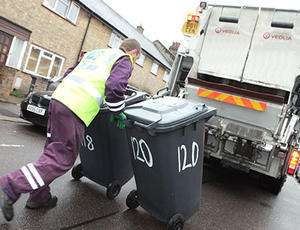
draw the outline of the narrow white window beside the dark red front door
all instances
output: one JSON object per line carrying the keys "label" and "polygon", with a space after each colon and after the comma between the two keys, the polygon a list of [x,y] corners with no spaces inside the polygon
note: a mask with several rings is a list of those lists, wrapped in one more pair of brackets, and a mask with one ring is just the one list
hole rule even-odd
{"label": "narrow white window beside the dark red front door", "polygon": [[24,57],[27,41],[14,37],[8,54],[6,65],[20,69]]}

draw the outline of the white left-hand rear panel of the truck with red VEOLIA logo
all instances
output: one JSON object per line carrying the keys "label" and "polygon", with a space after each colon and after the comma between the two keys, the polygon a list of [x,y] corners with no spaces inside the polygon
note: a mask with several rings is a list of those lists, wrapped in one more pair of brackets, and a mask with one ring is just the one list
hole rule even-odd
{"label": "white left-hand rear panel of the truck with red VEOLIA logo", "polygon": [[241,80],[258,12],[252,7],[213,7],[199,73]]}

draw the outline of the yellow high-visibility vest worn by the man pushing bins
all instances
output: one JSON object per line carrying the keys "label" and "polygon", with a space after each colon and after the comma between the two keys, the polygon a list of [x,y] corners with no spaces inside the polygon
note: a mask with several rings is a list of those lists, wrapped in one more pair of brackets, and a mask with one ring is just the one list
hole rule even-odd
{"label": "yellow high-visibility vest worn by the man pushing bins", "polygon": [[128,56],[120,49],[100,49],[86,53],[78,66],[64,78],[52,94],[75,113],[86,126],[93,121],[105,103],[105,82],[115,62]]}

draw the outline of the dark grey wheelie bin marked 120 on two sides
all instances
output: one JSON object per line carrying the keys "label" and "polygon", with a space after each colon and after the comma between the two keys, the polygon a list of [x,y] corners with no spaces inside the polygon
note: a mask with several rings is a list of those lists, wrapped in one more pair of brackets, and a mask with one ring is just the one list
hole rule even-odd
{"label": "dark grey wheelie bin marked 120 on two sides", "polygon": [[139,205],[168,229],[182,229],[199,208],[203,169],[204,123],[216,109],[176,97],[146,100],[126,110],[127,137]]}

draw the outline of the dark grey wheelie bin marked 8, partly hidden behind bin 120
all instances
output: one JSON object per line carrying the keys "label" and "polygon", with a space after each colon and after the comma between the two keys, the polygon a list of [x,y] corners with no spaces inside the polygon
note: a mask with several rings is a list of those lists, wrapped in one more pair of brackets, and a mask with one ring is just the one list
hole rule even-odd
{"label": "dark grey wheelie bin marked 8, partly hidden behind bin 120", "polygon": [[[126,106],[146,100],[147,94],[127,90]],[[111,112],[106,105],[100,109],[86,129],[79,152],[81,163],[72,169],[72,176],[79,180],[82,176],[107,188],[108,199],[115,198],[122,185],[132,178],[126,131],[109,121]]]}

